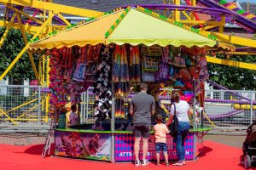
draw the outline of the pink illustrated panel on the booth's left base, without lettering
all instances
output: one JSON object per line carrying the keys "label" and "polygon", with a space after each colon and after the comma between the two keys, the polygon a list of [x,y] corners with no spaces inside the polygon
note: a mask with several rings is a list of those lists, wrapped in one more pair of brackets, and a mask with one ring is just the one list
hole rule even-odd
{"label": "pink illustrated panel on the booth's left base, without lettering", "polygon": [[111,161],[111,134],[56,130],[55,155]]}

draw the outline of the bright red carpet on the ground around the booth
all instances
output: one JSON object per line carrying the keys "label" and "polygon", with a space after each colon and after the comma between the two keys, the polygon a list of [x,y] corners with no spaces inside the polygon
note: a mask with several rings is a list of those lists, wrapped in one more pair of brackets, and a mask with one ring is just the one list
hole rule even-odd
{"label": "bright red carpet on the ground around the booth", "polygon": [[239,163],[241,149],[224,144],[205,142],[204,153],[195,162],[188,162],[183,167],[156,166],[150,163],[147,167],[135,167],[131,163],[105,163],[84,160],[72,160],[61,157],[42,158],[43,144],[14,146],[0,144],[0,169],[1,170],[125,170],[125,169],[189,169],[189,170],[236,170],[244,169]]}

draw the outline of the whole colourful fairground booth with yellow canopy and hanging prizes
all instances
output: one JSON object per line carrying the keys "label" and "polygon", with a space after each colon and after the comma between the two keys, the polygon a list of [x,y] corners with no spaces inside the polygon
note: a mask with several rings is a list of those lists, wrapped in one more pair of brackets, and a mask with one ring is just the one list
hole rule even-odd
{"label": "whole colourful fairground booth with yellow canopy and hanging prizes", "polygon": [[[215,37],[156,14],[147,8],[118,8],[65,31],[32,40],[31,50],[50,55],[50,111],[55,128],[55,156],[124,162],[133,160],[129,100],[140,82],[148,83],[159,107],[170,114],[171,92],[193,108],[186,139],[186,160],[203,147],[200,108],[204,101],[207,51],[218,48]],[[67,103],[79,106],[79,124],[65,125]],[[64,122],[64,123],[63,123]],[[154,116],[152,125],[154,125]],[[168,155],[176,160],[175,143],[167,137]],[[155,160],[154,132],[148,160]]]}

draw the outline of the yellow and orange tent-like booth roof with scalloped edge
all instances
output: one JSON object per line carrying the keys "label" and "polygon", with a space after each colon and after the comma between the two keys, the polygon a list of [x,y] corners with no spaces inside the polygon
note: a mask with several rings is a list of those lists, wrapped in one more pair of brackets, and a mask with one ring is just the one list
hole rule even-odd
{"label": "yellow and orange tent-like booth roof with scalloped edge", "polygon": [[[127,13],[127,14],[126,14]],[[118,22],[117,22],[118,20]],[[109,34],[108,34],[108,33]],[[107,34],[106,34],[107,33]],[[92,20],[69,31],[59,33],[53,37],[34,42],[30,48],[62,48],[86,44],[96,45],[129,43],[131,45],[144,44],[151,46],[158,44],[162,47],[173,45],[179,47],[213,47],[216,41],[200,34],[172,25],[153,15],[145,14],[137,8],[119,10]]]}

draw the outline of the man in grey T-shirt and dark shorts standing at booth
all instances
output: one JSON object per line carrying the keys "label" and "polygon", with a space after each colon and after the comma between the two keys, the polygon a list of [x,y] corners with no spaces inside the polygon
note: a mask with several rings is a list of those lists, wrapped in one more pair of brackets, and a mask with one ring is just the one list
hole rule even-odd
{"label": "man in grey T-shirt and dark shorts standing at booth", "polygon": [[[148,139],[150,137],[151,116],[154,115],[154,98],[147,94],[148,85],[140,84],[141,92],[131,99],[130,113],[133,116],[135,165],[148,165]],[[143,137],[143,160],[139,160],[140,142]]]}

